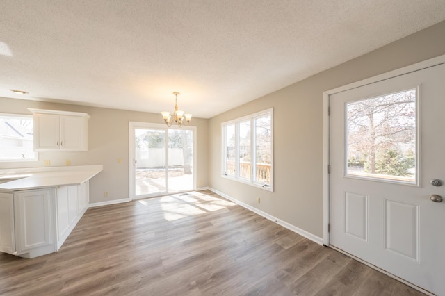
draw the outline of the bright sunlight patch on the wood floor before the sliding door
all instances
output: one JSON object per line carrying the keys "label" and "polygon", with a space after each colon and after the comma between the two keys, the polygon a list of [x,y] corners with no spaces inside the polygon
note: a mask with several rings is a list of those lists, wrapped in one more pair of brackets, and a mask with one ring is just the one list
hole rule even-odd
{"label": "bright sunlight patch on the wood floor before the sliding door", "polygon": [[[165,220],[168,221],[201,215],[236,205],[225,199],[220,199],[200,192],[165,195],[157,198],[157,200],[164,212],[163,215]],[[150,206],[152,204],[150,200],[145,199],[139,200],[138,202],[144,206]]]}

